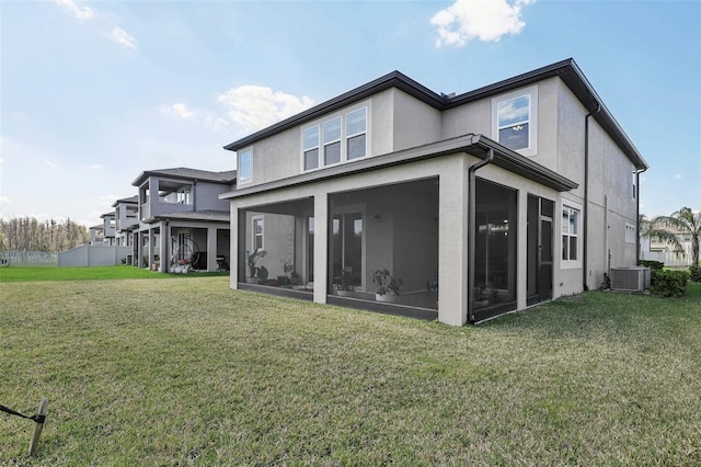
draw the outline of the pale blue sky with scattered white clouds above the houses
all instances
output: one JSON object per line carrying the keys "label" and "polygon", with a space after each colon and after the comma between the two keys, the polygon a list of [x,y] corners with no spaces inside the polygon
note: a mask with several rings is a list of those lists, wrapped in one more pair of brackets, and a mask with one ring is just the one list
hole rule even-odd
{"label": "pale blue sky with scattered white clouds above the houses", "polygon": [[143,170],[400,70],[463,93],[573,57],[647,160],[641,212],[701,209],[701,1],[0,1],[0,215],[100,224]]}

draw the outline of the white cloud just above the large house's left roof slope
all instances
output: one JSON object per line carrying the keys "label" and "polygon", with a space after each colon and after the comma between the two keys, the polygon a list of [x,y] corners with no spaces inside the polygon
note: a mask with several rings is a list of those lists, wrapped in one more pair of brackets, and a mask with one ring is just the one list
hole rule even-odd
{"label": "white cloud just above the large house's left roof slope", "polygon": [[265,128],[313,105],[308,96],[298,98],[261,86],[240,86],[219,95],[231,121],[244,132]]}

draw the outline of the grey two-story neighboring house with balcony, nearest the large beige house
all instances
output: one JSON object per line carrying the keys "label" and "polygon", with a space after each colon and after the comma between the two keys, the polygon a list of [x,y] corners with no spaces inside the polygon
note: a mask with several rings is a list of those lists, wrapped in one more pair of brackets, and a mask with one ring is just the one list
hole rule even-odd
{"label": "grey two-story neighboring house with balcony, nearest the large beige house", "polygon": [[228,262],[229,203],[219,195],[235,187],[235,170],[141,172],[131,183],[139,190],[139,226],[134,230],[136,265],[161,272],[180,264],[217,271],[222,261]]}

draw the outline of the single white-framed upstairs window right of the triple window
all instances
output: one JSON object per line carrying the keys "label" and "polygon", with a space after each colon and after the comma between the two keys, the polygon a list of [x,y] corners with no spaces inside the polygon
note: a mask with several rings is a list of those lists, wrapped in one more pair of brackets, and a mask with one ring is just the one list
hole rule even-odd
{"label": "single white-framed upstairs window right of the triple window", "polygon": [[492,137],[524,156],[538,152],[538,87],[492,100]]}

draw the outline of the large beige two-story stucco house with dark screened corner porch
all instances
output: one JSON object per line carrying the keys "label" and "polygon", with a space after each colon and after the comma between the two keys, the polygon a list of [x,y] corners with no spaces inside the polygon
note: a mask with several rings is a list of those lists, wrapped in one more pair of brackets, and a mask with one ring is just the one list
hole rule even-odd
{"label": "large beige two-story stucco house with dark screened corner porch", "polygon": [[232,288],[459,326],[636,261],[647,164],[572,59],[459,95],[394,71],[226,149]]}

